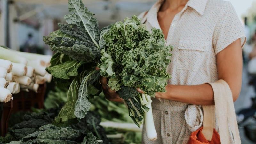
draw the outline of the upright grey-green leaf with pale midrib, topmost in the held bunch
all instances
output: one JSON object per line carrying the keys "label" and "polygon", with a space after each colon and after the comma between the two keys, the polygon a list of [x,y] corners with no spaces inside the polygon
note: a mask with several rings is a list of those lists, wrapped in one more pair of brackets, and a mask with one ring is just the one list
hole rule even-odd
{"label": "upright grey-green leaf with pale midrib, topmost in the held bunch", "polygon": [[88,11],[81,0],[68,0],[68,9],[71,14],[64,16],[66,22],[84,28],[84,31],[90,36],[95,46],[100,49],[99,24],[94,14]]}

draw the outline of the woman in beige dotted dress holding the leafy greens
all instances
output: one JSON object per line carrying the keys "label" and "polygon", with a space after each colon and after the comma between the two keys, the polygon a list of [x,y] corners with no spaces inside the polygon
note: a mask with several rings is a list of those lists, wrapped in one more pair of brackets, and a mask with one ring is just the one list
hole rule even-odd
{"label": "woman in beige dotted dress holding the leafy greens", "polygon": [[[209,82],[225,80],[235,101],[242,81],[244,29],[230,2],[222,0],[159,0],[144,16],[148,30],[163,30],[166,45],[174,47],[164,93],[156,93],[152,109],[158,139],[145,144],[186,144],[202,126],[201,105],[213,105]],[[101,79],[109,100],[121,101]],[[138,88],[138,91],[143,93]],[[230,143],[233,143],[230,137]]]}

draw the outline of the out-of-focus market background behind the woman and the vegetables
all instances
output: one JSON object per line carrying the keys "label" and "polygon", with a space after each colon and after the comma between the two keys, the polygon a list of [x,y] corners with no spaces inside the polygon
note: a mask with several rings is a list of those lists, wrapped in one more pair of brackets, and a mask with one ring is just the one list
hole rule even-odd
{"label": "out-of-focus market background behind the woman and the vegetables", "polygon": [[[99,21],[100,28],[149,10],[156,0],[83,0]],[[235,102],[243,144],[256,143],[256,0],[228,0],[244,25],[247,44],[243,49],[243,84]],[[65,22],[68,0],[0,0],[0,45],[11,49],[52,55],[43,36]]]}

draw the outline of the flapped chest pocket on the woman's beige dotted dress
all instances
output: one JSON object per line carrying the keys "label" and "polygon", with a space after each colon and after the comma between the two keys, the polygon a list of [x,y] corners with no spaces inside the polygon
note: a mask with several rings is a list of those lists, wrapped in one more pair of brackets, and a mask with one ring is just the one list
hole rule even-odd
{"label": "flapped chest pocket on the woman's beige dotted dress", "polygon": [[178,46],[177,69],[198,71],[206,64],[210,51],[207,41],[180,40]]}

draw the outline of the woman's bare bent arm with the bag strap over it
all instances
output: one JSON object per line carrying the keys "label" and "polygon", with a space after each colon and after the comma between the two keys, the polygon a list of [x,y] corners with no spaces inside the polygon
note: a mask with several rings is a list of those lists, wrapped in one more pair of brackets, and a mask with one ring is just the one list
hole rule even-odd
{"label": "woman's bare bent arm with the bag strap over it", "polygon": [[[242,49],[240,39],[230,44],[216,55],[218,77],[225,80],[236,101],[242,84]],[[196,105],[214,104],[213,90],[210,84],[194,86],[167,85],[167,92],[156,93],[156,98],[169,99]],[[141,92],[141,91],[139,91]]]}

